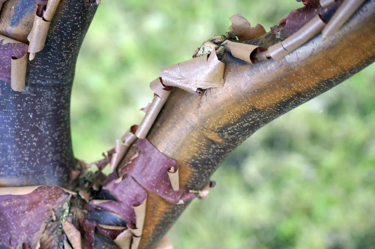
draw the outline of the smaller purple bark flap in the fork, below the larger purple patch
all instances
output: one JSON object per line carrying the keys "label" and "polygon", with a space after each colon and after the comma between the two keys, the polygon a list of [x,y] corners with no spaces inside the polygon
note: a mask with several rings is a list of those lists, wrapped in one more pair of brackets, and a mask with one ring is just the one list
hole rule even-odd
{"label": "smaller purple bark flap in the fork, below the larger purple patch", "polygon": [[103,186],[104,190],[108,190],[112,193],[116,201],[107,201],[97,204],[91,201],[90,205],[95,208],[100,208],[101,210],[115,213],[126,222],[135,224],[136,215],[133,210],[133,205],[141,205],[146,199],[147,193],[130,175],[124,175],[121,177],[120,181],[116,181],[117,179],[112,180]]}

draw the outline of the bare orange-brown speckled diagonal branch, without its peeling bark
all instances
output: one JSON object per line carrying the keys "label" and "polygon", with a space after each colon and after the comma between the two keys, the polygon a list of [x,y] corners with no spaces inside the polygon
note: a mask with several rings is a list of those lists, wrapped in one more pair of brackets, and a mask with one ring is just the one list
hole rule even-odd
{"label": "bare orange-brown speckled diagonal branch, without its peeling bark", "polygon": [[[269,47],[275,35],[250,41]],[[336,35],[321,35],[280,61],[249,65],[226,53],[225,84],[195,96],[173,89],[147,139],[179,165],[180,187],[201,189],[221,161],[251,134],[326,92],[375,60],[375,0]],[[186,205],[148,192],[139,248],[151,249]]]}

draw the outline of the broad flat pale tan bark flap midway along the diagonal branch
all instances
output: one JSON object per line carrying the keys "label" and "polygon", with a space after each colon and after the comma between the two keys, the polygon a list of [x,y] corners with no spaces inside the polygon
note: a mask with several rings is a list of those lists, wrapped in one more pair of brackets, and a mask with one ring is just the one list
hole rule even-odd
{"label": "broad flat pale tan bark flap midway along the diagonal branch", "polygon": [[224,63],[216,53],[195,57],[160,70],[162,83],[176,86],[192,94],[197,89],[222,87],[224,85]]}

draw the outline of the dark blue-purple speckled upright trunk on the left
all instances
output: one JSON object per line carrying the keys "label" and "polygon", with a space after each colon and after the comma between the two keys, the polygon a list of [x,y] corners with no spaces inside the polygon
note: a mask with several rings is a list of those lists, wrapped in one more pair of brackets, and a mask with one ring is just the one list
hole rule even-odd
{"label": "dark blue-purple speckled upright trunk on the left", "polygon": [[[0,33],[26,37],[31,25],[25,23],[35,7],[34,0],[5,2]],[[62,0],[44,49],[28,63],[25,91],[12,91],[0,80],[0,186],[68,187],[74,168],[70,95],[78,51],[95,11],[82,0]]]}

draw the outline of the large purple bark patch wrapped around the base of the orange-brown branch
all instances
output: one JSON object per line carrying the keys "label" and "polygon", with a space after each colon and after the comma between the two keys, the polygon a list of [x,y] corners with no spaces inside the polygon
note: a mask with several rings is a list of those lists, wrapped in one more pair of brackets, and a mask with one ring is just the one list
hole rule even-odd
{"label": "large purple bark patch wrapped around the base of the orange-brown branch", "polygon": [[[131,163],[127,157],[139,153]],[[172,158],[159,152],[147,139],[138,139],[129,148],[129,152],[120,164],[120,172],[131,175],[141,186],[148,189],[169,202],[177,204],[181,200],[195,199],[197,196],[187,189],[174,191],[168,177],[168,169],[177,168]]]}

